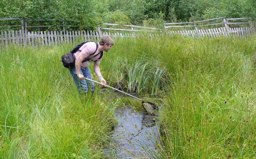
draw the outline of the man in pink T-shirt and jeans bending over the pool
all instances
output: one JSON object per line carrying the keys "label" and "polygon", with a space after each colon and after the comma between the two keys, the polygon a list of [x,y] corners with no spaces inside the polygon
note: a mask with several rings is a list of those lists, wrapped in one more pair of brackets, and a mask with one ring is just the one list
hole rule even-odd
{"label": "man in pink T-shirt and jeans bending over the pool", "polygon": [[[92,61],[94,62],[94,72],[99,77],[100,83],[103,84],[103,86],[104,84],[106,84],[106,80],[102,77],[100,72],[100,61],[103,58],[103,51],[108,52],[108,50],[111,49],[111,46],[113,45],[114,40],[109,35],[105,35],[100,39],[98,43],[98,48],[96,43],[88,42],[82,45],[79,51],[74,53],[74,56],[76,58],[76,64],[74,67],[71,67],[69,71],[71,76],[73,77],[79,93],[87,93],[89,88],[88,85],[94,92],[94,83],[85,80],[85,78],[92,79],[91,72],[88,68]],[[85,59],[89,60],[82,63],[82,61]]]}

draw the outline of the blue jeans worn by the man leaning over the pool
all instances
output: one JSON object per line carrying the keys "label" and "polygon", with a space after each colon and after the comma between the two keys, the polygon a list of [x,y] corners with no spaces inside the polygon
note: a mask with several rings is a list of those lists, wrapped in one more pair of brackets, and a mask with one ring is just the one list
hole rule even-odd
{"label": "blue jeans worn by the man leaning over the pool", "polygon": [[[69,71],[78,88],[79,93],[81,94],[87,93],[88,86],[91,87],[91,90],[94,92],[94,82],[91,82],[85,79],[84,80],[79,79],[77,76],[76,67],[70,67]],[[88,67],[81,68],[80,71],[85,78],[92,79],[92,74]]]}

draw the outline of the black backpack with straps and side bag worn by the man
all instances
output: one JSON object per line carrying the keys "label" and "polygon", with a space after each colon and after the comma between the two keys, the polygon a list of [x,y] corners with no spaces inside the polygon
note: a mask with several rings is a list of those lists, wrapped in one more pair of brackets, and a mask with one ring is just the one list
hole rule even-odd
{"label": "black backpack with straps and side bag worn by the man", "polygon": [[[73,54],[76,53],[77,51],[81,52],[81,50],[79,50],[80,47],[83,46],[85,43],[88,43],[88,42],[90,42],[90,41],[84,41],[84,42],[76,45],[75,47],[73,47],[73,49],[69,53],[61,56],[61,62],[63,63],[63,66],[66,67],[66,68],[74,67],[75,63],[76,63],[76,57]],[[96,44],[96,50],[93,52],[93,54],[95,54],[95,52],[98,49],[98,43],[96,43],[96,42],[94,42],[94,43]],[[93,55],[93,54],[91,54],[91,55]],[[100,57],[99,57],[99,59],[100,59],[103,56],[103,51],[101,51],[99,54],[101,54]],[[99,54],[97,54],[97,55],[99,55]],[[97,55],[95,55],[94,57],[96,57]],[[94,57],[92,57],[92,58],[94,58]],[[92,58],[90,58],[90,59],[92,59]],[[86,62],[86,61],[89,61],[90,59],[86,58],[85,60],[82,61],[82,63]]]}

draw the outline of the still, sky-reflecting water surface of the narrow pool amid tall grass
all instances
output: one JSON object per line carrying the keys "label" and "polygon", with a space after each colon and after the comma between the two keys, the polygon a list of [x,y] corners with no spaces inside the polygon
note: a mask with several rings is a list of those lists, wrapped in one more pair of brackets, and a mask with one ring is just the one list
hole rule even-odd
{"label": "still, sky-reflecting water surface of the narrow pool amid tall grass", "polygon": [[158,158],[159,145],[156,117],[132,108],[119,108],[115,118],[112,144],[105,147],[107,158]]}

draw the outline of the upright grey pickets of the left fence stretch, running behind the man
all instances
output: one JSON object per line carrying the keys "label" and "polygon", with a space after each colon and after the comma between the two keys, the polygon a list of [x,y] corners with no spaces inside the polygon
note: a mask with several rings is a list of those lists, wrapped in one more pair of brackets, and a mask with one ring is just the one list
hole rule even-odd
{"label": "upright grey pickets of the left fence stretch, running behind the man", "polygon": [[[124,38],[124,37],[132,37],[134,38],[135,34],[122,34],[122,33],[108,33],[103,32],[102,35],[99,34],[98,31],[31,31],[27,32],[25,38],[23,38],[22,30],[12,30],[12,31],[2,31],[1,36],[1,45],[8,46],[8,44],[19,44],[20,46],[51,46],[62,43],[73,43],[76,40],[100,40],[100,38],[104,35],[110,35],[112,38]],[[153,36],[153,35],[152,35]],[[24,40],[25,39],[25,40]]]}

